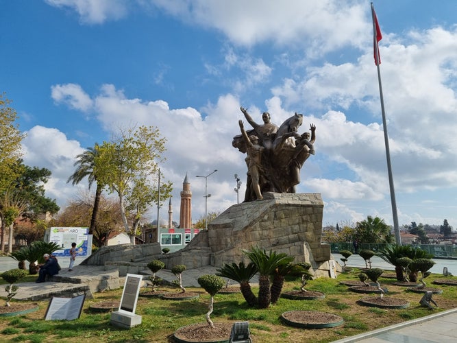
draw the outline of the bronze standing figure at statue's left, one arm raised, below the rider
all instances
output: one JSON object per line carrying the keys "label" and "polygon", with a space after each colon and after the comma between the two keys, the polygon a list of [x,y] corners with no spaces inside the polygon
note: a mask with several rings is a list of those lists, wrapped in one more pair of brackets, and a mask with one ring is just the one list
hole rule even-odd
{"label": "bronze standing figure at statue's left, one arm raised, below the rider", "polygon": [[251,176],[251,187],[256,193],[257,200],[262,200],[263,196],[260,191],[260,170],[262,168],[262,151],[264,147],[258,145],[258,137],[251,135],[247,136],[245,128],[243,126],[243,121],[239,120],[238,124],[240,126],[241,135],[245,140],[246,150],[247,150],[247,172]]}

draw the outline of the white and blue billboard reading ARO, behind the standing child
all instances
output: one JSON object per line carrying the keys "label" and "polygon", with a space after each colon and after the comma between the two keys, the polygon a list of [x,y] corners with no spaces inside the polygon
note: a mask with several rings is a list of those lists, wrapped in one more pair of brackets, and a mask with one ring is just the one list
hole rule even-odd
{"label": "white and blue billboard reading ARO, behind the standing child", "polygon": [[45,240],[60,246],[53,252],[55,256],[70,256],[71,244],[76,243],[77,256],[88,256],[92,252],[92,239],[89,239],[89,228],[53,227],[49,228]]}

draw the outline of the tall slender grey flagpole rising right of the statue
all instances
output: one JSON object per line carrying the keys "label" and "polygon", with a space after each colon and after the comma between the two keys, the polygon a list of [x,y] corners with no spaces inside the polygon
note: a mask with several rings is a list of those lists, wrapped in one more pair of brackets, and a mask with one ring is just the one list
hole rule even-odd
{"label": "tall slender grey flagpole rising right of the statue", "polygon": [[381,71],[380,71],[380,56],[378,48],[378,32],[376,29],[376,16],[373,3],[371,3],[371,19],[373,20],[373,48],[375,51],[375,64],[378,68],[378,84],[380,88],[380,100],[381,100],[381,113],[382,113],[382,127],[384,128],[384,143],[386,145],[386,158],[387,158],[387,173],[388,173],[388,184],[391,189],[391,204],[392,204],[392,216],[393,216],[393,230],[395,232],[395,241],[398,246],[402,245],[402,237],[400,236],[400,230],[398,226],[398,216],[397,216],[397,202],[395,202],[395,189],[393,187],[393,176],[392,176],[392,166],[391,166],[391,152],[388,147],[388,135],[387,135],[387,123],[386,123],[386,113],[384,110],[384,96],[382,95],[382,83],[381,83]]}

